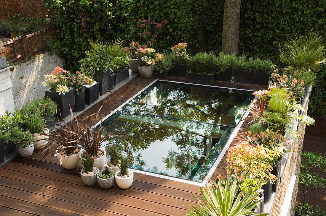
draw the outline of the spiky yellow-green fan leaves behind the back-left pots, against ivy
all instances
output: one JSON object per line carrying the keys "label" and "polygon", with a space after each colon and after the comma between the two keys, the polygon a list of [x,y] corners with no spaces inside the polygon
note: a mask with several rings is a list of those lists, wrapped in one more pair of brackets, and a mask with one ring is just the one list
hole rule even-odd
{"label": "spiky yellow-green fan leaves behind the back-left pots, against ivy", "polygon": [[107,55],[112,57],[124,57],[130,54],[130,52],[124,50],[125,41],[121,38],[114,38],[110,43],[92,41],[88,39],[91,45],[91,52],[103,52],[106,51]]}

